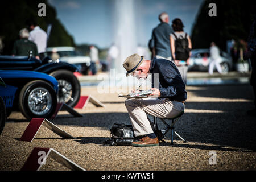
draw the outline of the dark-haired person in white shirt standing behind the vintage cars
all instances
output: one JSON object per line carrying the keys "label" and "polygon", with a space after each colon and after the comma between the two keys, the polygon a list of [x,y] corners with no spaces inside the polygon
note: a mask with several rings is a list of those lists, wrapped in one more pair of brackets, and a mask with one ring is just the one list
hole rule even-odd
{"label": "dark-haired person in white shirt standing behind the vintage cars", "polygon": [[38,47],[40,60],[43,60],[44,52],[46,52],[47,46],[47,34],[38,26],[35,20],[28,20],[27,24],[29,29],[31,30],[28,40],[36,44],[36,46]]}

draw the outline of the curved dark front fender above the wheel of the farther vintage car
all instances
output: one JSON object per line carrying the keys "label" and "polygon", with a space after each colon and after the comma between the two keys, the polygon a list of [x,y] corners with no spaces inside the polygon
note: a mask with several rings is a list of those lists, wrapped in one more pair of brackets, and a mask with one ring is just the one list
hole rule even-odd
{"label": "curved dark front fender above the wheel of the farther vintage car", "polygon": [[75,65],[72,65],[72,64],[69,64],[69,63],[64,63],[64,62],[47,63],[47,64],[44,64],[44,65],[34,69],[34,71],[49,74],[49,73],[52,73],[52,72],[57,71],[59,69],[67,69],[68,71],[71,71],[71,72],[78,72],[79,71],[79,68],[77,68]]}

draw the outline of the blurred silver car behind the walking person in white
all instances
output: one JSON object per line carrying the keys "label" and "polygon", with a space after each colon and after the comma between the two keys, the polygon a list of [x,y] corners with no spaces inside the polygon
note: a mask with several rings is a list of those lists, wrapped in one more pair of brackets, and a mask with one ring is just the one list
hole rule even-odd
{"label": "blurred silver car behind the walking person in white", "polygon": [[[210,63],[209,49],[193,49],[189,60],[189,71],[208,71]],[[228,53],[220,50],[221,59],[219,61],[222,73],[228,73],[233,67],[232,57]]]}

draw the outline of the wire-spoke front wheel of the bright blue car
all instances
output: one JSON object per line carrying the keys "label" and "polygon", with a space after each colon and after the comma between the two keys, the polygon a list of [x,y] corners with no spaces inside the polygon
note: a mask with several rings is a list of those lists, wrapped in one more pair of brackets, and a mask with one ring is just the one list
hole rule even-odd
{"label": "wire-spoke front wheel of the bright blue car", "polygon": [[56,92],[45,81],[28,82],[20,91],[19,109],[28,120],[31,118],[51,118],[56,106]]}

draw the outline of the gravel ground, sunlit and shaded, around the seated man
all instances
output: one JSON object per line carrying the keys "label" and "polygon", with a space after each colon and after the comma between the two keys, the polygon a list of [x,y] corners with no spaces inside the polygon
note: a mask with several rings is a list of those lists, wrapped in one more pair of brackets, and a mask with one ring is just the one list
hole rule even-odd
{"label": "gravel ground, sunlit and shaded, around the seated man", "polygon": [[[86,170],[255,170],[256,124],[246,115],[253,108],[250,85],[188,86],[185,114],[176,131],[188,140],[176,139],[172,146],[102,146],[110,137],[113,123],[130,123],[125,98],[99,94],[96,87],[82,88],[105,104],[88,104],[83,118],[66,111],[51,120],[75,139],[62,139],[42,127],[32,142],[18,139],[28,121],[18,112],[8,118],[0,136],[0,170],[19,170],[34,147],[53,148]],[[217,154],[217,164],[209,164],[209,152]],[[41,170],[68,170],[48,158]]]}

